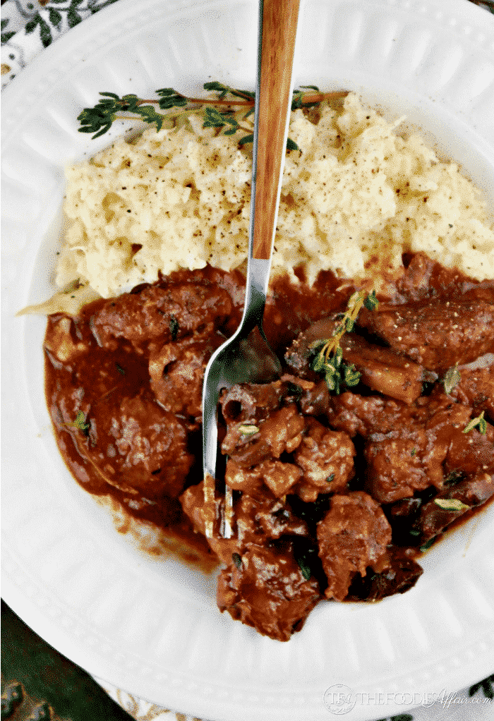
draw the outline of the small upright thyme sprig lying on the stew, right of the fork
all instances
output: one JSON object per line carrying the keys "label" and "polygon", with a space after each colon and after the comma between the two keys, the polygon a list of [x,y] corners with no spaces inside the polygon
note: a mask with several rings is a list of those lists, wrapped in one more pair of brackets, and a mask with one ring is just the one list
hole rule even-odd
{"label": "small upright thyme sprig lying on the stew, right of the fork", "polygon": [[353,363],[350,366],[343,363],[340,340],[345,333],[353,330],[362,306],[373,311],[378,305],[376,291],[372,291],[369,295],[366,295],[366,291],[353,293],[348,299],[347,309],[338,321],[332,337],[315,340],[309,345],[310,350],[315,354],[312,358],[311,368],[316,373],[324,373],[326,385],[330,391],[339,394],[343,386],[351,388],[360,381],[361,373],[356,370]]}

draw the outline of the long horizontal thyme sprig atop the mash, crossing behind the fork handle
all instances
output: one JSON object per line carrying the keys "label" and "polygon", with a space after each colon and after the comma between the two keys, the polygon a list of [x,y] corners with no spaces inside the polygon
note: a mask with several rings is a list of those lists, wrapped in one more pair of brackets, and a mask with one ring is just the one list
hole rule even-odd
{"label": "long horizontal thyme sprig atop the mash, crossing behind the fork handle", "polygon": [[[93,139],[99,138],[110,130],[115,120],[132,117],[150,125],[155,124],[156,130],[160,131],[165,120],[176,120],[180,115],[201,112],[204,128],[218,128],[224,135],[242,133],[239,145],[252,143],[252,127],[244,125],[244,121],[254,112],[255,94],[250,90],[231,88],[218,81],[205,83],[203,87],[214,97],[188,97],[174,88],[160,88],[155,91],[158,97],[151,99],[140,98],[135,94],[120,97],[114,92],[100,92],[100,101],[94,107],[85,107],[79,114],[79,133],[93,133]],[[294,90],[291,109],[315,107],[325,99],[339,99],[346,94],[343,91],[322,93],[315,85],[301,86]],[[177,110],[172,112],[173,109]],[[123,112],[131,115],[122,115]],[[288,150],[299,150],[290,138],[286,146]]]}

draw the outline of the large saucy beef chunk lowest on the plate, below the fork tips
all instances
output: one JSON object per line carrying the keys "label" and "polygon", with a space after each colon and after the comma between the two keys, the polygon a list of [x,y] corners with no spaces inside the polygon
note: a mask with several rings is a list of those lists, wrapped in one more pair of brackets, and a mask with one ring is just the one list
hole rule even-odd
{"label": "large saucy beef chunk lowest on the plate, below the fork tips", "polygon": [[305,580],[293,553],[252,546],[221,572],[216,598],[220,611],[233,619],[288,641],[321,595],[317,580]]}

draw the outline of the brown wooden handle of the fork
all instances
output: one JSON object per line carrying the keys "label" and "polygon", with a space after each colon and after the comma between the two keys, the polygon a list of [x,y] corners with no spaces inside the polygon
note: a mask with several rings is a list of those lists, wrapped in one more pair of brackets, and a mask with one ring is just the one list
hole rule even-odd
{"label": "brown wooden handle of the fork", "polygon": [[275,234],[299,6],[300,0],[263,1],[252,238],[252,255],[259,260],[271,257]]}

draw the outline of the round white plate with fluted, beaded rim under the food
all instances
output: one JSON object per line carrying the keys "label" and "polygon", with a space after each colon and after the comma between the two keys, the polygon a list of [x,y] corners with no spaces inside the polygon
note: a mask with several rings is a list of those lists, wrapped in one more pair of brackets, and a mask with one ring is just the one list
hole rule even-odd
{"label": "round white plate with fluted, beaded rim under the food", "polygon": [[[139,555],[71,479],[45,410],[44,323],[14,317],[53,289],[64,165],[110,141],[77,132],[81,107],[99,91],[253,87],[256,21],[250,0],[121,0],[4,92],[2,592],[90,673],[167,707],[327,720],[325,690],[343,684],[355,702],[345,718],[384,717],[492,673],[494,505],[427,554],[404,596],[320,603],[290,642],[260,637],[219,614],[214,580]],[[405,112],[494,208],[487,12],[466,0],[307,0],[296,80]]]}

